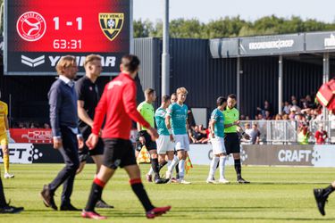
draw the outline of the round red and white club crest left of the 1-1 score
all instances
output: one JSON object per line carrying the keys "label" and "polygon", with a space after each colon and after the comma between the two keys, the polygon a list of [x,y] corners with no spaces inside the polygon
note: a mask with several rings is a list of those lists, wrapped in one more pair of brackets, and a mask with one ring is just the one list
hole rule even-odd
{"label": "round red and white club crest left of the 1-1 score", "polygon": [[16,23],[16,30],[26,41],[37,41],[46,33],[46,20],[38,12],[24,12]]}

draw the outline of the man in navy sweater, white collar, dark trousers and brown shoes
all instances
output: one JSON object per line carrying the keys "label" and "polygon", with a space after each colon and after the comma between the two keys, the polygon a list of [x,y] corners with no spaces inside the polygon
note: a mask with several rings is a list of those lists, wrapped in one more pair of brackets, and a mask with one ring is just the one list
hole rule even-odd
{"label": "man in navy sweater, white collar, dark trousers and brown shoes", "polygon": [[63,185],[61,211],[80,211],[71,204],[71,194],[76,171],[80,166],[78,149],[84,143],[78,128],[77,94],[73,79],[78,66],[74,56],[63,56],[56,66],[59,78],[50,88],[48,98],[50,105],[50,123],[54,136],[54,149],[63,155],[65,167],[57,177],[43,187],[41,196],[46,207],[57,210],[54,192]]}

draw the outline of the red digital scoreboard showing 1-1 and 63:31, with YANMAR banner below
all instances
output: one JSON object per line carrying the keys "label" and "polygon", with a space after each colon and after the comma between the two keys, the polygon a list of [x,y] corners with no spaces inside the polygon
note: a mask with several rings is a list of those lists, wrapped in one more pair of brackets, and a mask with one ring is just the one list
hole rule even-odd
{"label": "red digital scoreboard showing 1-1 and 63:31, with YANMAR banner below", "polygon": [[102,57],[103,72],[120,71],[130,52],[130,0],[5,0],[4,74],[56,75],[63,55]]}

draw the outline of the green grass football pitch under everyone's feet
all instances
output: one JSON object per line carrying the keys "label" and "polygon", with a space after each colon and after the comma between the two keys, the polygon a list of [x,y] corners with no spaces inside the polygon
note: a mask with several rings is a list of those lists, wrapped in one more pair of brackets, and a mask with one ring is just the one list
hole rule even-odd
{"label": "green grass football pitch under everyone's feet", "polygon": [[[39,192],[51,181],[63,165],[33,164],[11,165],[13,179],[3,179],[4,190],[12,204],[25,207],[18,215],[2,215],[0,222],[90,222],[81,219],[80,212],[62,212],[47,209]],[[149,168],[142,165],[142,173]],[[207,166],[191,169],[187,179],[193,184],[155,185],[145,183],[155,205],[172,205],[172,211],[158,222],[327,222],[335,221],[334,194],[326,206],[326,217],[316,210],[312,189],[327,186],[335,178],[335,169],[244,167],[244,178],[251,185],[207,185]],[[83,208],[94,176],[95,166],[87,165],[76,178],[72,203]],[[226,177],[235,181],[235,171],[228,167]],[[59,205],[62,188],[55,201]],[[100,211],[109,219],[105,222],[153,222],[132,193],[128,178],[119,169],[105,188],[105,201],[115,206],[111,211]],[[93,221],[93,220],[92,220]],[[94,221],[93,221],[94,222]]]}

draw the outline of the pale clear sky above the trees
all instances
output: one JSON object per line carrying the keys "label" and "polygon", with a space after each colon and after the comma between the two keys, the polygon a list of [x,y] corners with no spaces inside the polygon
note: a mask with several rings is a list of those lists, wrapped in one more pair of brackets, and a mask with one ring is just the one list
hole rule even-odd
{"label": "pale clear sky above the trees", "polygon": [[[133,0],[134,19],[157,21],[163,18],[165,0]],[[266,15],[335,22],[335,0],[170,0],[170,20],[198,19],[208,22],[225,16],[255,21]]]}

